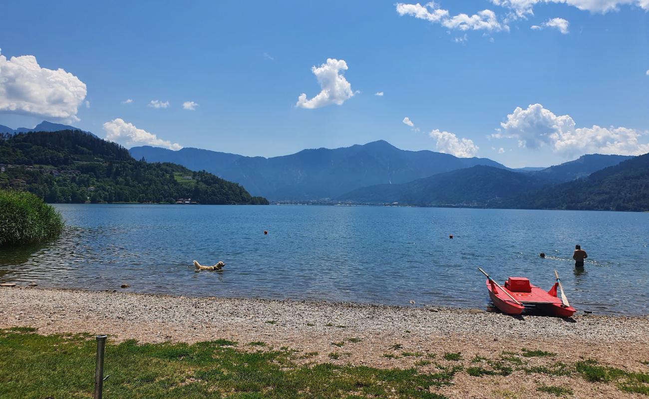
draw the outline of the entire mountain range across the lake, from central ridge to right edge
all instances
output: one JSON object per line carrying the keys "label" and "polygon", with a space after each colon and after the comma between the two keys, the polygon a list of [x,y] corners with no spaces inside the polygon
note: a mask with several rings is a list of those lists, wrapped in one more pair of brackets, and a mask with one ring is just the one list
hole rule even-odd
{"label": "entire mountain range across the lake, from central ridge to right edge", "polygon": [[[56,125],[36,128],[41,127]],[[53,159],[43,151],[29,156]],[[547,168],[510,169],[487,158],[404,151],[382,140],[273,158],[148,146],[133,147],[130,155],[153,165],[208,171],[277,202],[644,210],[649,184],[639,161],[646,156],[587,154]]]}

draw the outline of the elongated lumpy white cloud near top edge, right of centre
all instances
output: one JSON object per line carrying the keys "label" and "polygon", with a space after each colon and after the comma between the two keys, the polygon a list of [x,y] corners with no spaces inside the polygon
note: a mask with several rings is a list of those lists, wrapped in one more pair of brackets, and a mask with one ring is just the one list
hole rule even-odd
{"label": "elongated lumpy white cloud near top edge, right of centre", "polygon": [[499,31],[509,30],[509,27],[498,21],[495,12],[491,10],[478,11],[476,14],[458,14],[450,16],[448,10],[439,8],[439,5],[430,2],[425,6],[421,4],[397,3],[397,13],[400,16],[408,15],[419,19],[425,19],[431,23],[439,23],[451,30],[487,30]]}

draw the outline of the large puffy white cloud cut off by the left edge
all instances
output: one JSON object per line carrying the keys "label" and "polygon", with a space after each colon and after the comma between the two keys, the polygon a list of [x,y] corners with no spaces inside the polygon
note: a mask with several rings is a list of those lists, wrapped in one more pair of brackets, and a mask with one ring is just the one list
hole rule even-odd
{"label": "large puffy white cloud cut off by the left edge", "polygon": [[64,69],[42,68],[32,55],[0,54],[0,112],[79,121],[86,93],[86,84]]}

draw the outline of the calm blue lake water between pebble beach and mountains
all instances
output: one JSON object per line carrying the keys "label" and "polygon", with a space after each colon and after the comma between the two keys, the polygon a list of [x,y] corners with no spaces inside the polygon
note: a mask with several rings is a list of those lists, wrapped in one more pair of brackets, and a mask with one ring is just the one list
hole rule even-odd
{"label": "calm blue lake water between pebble beach and mountains", "polygon": [[[343,206],[57,205],[60,239],[0,249],[0,282],[194,296],[486,308],[481,266],[573,306],[649,314],[649,213]],[[268,230],[268,235],[263,234]],[[453,234],[454,239],[448,239]],[[588,252],[576,271],[574,245]],[[542,259],[539,252],[545,252]],[[227,266],[195,272],[192,260]]]}

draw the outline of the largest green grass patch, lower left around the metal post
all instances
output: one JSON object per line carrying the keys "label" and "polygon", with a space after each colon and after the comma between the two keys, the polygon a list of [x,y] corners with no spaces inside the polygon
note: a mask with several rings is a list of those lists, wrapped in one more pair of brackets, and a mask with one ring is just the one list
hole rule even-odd
{"label": "largest green grass patch, lower left around the metal post", "polygon": [[[288,351],[246,352],[221,344],[116,344],[109,339],[105,374],[110,378],[104,382],[104,397],[443,399],[430,393],[430,387],[449,385],[460,370],[297,365]],[[0,330],[0,398],[91,397],[95,348],[95,339],[86,334]]]}

